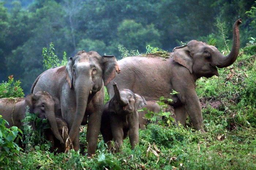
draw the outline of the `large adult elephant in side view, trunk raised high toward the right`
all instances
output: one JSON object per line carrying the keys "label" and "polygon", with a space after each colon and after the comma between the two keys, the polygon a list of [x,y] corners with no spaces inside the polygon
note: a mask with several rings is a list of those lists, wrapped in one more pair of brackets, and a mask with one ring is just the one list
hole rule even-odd
{"label": "large adult elephant in side view, trunk raised high toward the right", "polygon": [[216,67],[228,67],[236,61],[240,48],[240,24],[241,19],[238,19],[233,25],[233,46],[227,56],[214,46],[192,40],[185,46],[174,48],[165,60],[153,54],[119,60],[122,72],[107,85],[110,98],[114,95],[113,82],[119,88],[141,94],[146,100],[159,100],[160,96],[170,98],[170,92],[175,90],[179,94],[172,96],[174,102],[170,104],[175,107],[176,121],[185,124],[189,115],[195,129],[204,132],[195,82],[201,77],[218,76]]}

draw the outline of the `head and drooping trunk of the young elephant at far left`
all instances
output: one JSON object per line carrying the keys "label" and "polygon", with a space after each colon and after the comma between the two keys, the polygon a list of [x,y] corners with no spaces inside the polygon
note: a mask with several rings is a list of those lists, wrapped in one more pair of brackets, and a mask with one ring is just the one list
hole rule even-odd
{"label": "head and drooping trunk of the young elephant at far left", "polygon": [[29,94],[25,98],[25,103],[30,108],[31,113],[38,113],[39,118],[47,118],[49,120],[54,136],[61,143],[63,139],[58,130],[54,110],[60,108],[60,103],[57,98],[53,98],[48,92],[38,91],[35,94]]}

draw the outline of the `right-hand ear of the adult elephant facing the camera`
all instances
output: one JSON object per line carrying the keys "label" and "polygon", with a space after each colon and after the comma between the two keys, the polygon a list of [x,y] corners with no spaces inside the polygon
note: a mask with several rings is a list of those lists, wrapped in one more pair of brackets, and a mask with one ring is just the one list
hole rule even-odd
{"label": "right-hand ear of the adult elephant facing the camera", "polygon": [[102,79],[106,86],[116,76],[116,72],[120,73],[120,69],[113,55],[103,55],[101,57],[101,66],[103,72]]}

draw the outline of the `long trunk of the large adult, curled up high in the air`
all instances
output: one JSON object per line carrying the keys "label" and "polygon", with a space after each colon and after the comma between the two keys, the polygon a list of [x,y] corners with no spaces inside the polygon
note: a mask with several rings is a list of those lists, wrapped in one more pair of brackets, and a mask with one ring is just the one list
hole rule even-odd
{"label": "long trunk of the large adult, curled up high in the air", "polygon": [[224,56],[221,52],[216,52],[213,58],[213,63],[219,68],[228,67],[233,64],[238,56],[240,48],[240,37],[239,37],[239,28],[238,26],[242,23],[241,19],[238,19],[233,25],[233,45],[229,55]]}

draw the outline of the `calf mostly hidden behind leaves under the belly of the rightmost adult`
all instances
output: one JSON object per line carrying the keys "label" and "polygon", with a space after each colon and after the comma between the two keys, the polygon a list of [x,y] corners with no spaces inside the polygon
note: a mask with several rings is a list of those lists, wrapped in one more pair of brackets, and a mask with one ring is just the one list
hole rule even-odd
{"label": "calf mostly hidden behind leaves under the belly of the rightmost adult", "polygon": [[[148,119],[146,119],[144,117],[145,114],[147,114],[148,110],[150,112],[159,113],[161,108],[155,100],[148,100],[147,104],[145,106],[143,106],[143,108],[147,108],[147,110],[138,112],[139,113],[139,128],[142,130],[145,130],[146,129],[145,125],[148,122]],[[171,116],[173,116],[173,118],[175,119],[174,108],[172,106],[167,105],[166,108],[162,108],[162,111],[163,112],[171,112]],[[162,119],[162,118],[158,118],[158,119]],[[157,123],[157,121],[156,121],[156,123]]]}

